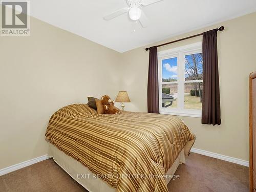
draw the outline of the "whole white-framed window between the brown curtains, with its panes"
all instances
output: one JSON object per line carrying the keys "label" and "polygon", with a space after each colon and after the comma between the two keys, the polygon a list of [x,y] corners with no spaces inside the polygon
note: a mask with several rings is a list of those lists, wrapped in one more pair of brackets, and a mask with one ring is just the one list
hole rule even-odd
{"label": "whole white-framed window between the brown curtains, with its panes", "polygon": [[160,113],[201,117],[202,42],[158,52]]}

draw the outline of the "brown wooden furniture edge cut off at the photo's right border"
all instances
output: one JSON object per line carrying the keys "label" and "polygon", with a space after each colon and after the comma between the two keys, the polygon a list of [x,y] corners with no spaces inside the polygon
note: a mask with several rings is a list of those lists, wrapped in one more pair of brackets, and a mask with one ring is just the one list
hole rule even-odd
{"label": "brown wooden furniture edge cut off at the photo's right border", "polygon": [[253,122],[253,116],[252,116],[252,80],[256,78],[256,72],[253,72],[250,74],[249,77],[249,170],[250,170],[250,192],[253,192],[253,150],[252,150],[252,122]]}

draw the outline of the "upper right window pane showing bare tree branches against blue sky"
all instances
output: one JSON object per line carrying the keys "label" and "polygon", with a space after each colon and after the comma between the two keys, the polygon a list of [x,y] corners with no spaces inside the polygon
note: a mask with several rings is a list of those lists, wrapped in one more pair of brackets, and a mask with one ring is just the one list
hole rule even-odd
{"label": "upper right window pane showing bare tree branches against blue sky", "polygon": [[196,53],[185,56],[185,80],[203,79],[203,54]]}

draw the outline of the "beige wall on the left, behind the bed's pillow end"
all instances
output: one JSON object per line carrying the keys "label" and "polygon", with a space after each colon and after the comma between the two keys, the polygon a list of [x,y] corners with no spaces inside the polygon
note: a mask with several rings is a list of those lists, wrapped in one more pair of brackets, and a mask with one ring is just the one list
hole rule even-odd
{"label": "beige wall on the left, behind the bed's pillow end", "polygon": [[1,36],[0,169],[47,154],[46,127],[62,106],[116,96],[119,57],[34,18],[31,36]]}

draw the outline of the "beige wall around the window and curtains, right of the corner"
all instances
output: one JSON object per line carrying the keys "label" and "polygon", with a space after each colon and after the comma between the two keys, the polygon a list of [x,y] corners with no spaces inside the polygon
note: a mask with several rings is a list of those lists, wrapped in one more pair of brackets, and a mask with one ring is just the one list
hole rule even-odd
{"label": "beige wall around the window and curtains, right of the corner", "polygon": [[[202,125],[201,118],[180,117],[197,135],[195,148],[243,160],[249,159],[248,77],[250,72],[256,70],[255,22],[256,13],[253,13],[154,44],[225,26],[223,32],[218,32],[222,123],[220,126]],[[202,37],[184,40],[161,47],[158,51],[201,40]],[[122,89],[128,91],[132,101],[126,104],[127,110],[147,110],[148,52],[145,47],[122,54]]]}

